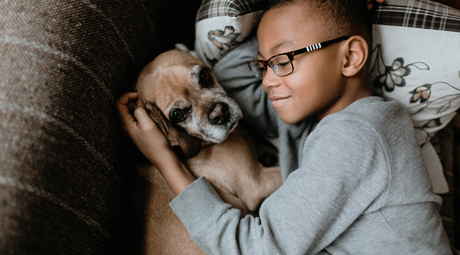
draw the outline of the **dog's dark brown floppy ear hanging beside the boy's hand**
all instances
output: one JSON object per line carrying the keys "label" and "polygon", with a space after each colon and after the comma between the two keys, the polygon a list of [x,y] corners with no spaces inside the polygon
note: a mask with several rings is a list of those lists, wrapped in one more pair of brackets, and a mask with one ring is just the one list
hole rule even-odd
{"label": "dog's dark brown floppy ear hanging beside the boy's hand", "polygon": [[173,148],[176,147],[175,149],[180,147],[181,151],[176,151],[179,156],[183,153],[186,158],[191,158],[200,153],[202,142],[200,138],[188,135],[182,127],[169,121],[154,103],[146,102],[144,106],[150,118],[160,127],[169,140],[169,144]]}

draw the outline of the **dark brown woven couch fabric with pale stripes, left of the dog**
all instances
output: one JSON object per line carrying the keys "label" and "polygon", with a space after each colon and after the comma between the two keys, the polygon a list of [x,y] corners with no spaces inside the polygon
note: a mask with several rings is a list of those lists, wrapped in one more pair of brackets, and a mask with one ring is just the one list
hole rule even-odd
{"label": "dark brown woven couch fabric with pale stripes, left of the dog", "polygon": [[132,254],[133,149],[113,103],[193,42],[199,4],[0,0],[0,254]]}

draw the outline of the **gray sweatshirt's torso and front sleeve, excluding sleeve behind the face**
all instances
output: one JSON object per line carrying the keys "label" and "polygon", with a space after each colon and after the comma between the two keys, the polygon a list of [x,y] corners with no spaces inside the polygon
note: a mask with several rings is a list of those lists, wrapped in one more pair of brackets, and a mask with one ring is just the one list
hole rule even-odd
{"label": "gray sweatshirt's torso and front sleeve, excluding sleeve behind the face", "polygon": [[259,218],[240,220],[205,178],[170,203],[209,255],[449,255],[440,205],[409,116],[377,97],[318,123],[301,167],[265,200]]}

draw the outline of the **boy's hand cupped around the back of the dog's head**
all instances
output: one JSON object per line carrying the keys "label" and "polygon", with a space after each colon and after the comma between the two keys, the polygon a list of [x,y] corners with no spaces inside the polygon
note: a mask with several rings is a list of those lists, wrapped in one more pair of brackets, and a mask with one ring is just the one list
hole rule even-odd
{"label": "boy's hand cupped around the back of the dog's head", "polygon": [[134,110],[134,101],[138,98],[137,92],[123,94],[115,105],[120,115],[121,125],[129,138],[139,150],[156,167],[163,165],[162,159],[170,158],[175,153],[169,145],[169,141],[161,129],[148,116],[144,107]]}

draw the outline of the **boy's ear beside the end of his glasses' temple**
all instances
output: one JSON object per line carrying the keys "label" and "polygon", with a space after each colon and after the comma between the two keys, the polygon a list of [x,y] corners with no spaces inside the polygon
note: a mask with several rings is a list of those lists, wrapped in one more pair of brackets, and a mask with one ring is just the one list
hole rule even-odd
{"label": "boy's ear beside the end of his glasses' temple", "polygon": [[368,59],[368,43],[359,35],[351,36],[343,45],[346,55],[342,74],[351,77],[356,75],[366,65]]}

